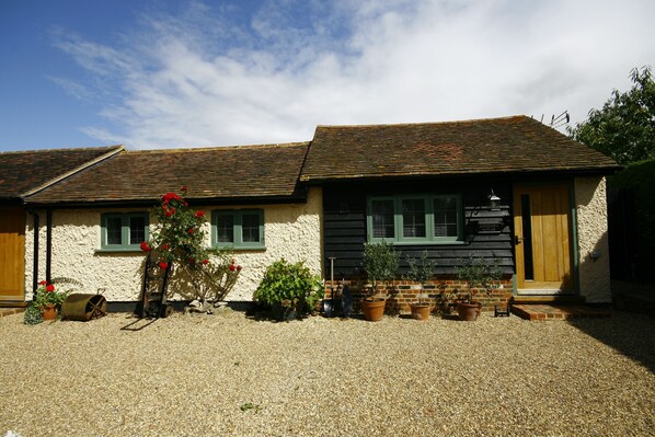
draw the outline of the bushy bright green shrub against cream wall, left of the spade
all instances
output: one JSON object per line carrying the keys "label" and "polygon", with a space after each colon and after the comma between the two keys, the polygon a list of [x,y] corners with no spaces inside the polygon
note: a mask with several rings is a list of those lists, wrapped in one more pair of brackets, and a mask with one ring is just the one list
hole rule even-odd
{"label": "bushy bright green shrub against cream wall, left of the spade", "polygon": [[303,312],[315,308],[323,291],[321,278],[312,275],[303,261],[290,264],[281,258],[266,267],[254,299],[267,307],[281,303]]}

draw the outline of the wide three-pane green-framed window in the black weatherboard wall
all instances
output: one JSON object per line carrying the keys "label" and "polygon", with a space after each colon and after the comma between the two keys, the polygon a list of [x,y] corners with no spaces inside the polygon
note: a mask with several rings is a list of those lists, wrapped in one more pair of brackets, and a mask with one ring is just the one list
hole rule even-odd
{"label": "wide three-pane green-framed window in the black weatherboard wall", "polygon": [[456,194],[370,197],[367,221],[369,241],[447,244],[463,237]]}

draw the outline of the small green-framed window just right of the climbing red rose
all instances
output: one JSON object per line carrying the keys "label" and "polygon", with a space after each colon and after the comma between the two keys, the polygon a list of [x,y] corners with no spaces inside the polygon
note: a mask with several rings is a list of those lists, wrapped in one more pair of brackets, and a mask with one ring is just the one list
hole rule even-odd
{"label": "small green-framed window just right of the climbing red rose", "polygon": [[262,209],[217,209],[211,212],[211,245],[217,248],[263,249]]}

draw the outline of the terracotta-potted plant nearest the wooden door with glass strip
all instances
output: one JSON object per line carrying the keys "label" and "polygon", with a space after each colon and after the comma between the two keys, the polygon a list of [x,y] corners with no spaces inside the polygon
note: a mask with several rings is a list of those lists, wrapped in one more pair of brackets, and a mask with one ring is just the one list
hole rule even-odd
{"label": "terracotta-potted plant nearest the wooden door with glass strip", "polygon": [[[498,260],[494,258],[491,263],[481,257],[475,258],[472,255],[467,260],[460,260],[457,267],[457,277],[467,283],[467,290],[461,294],[463,299],[457,302],[457,312],[460,320],[474,321],[480,315],[482,301],[484,298],[473,300],[481,291],[485,297],[491,297],[493,290],[497,287],[495,283],[501,279],[503,272],[498,265]],[[458,294],[459,297],[460,294]]]}

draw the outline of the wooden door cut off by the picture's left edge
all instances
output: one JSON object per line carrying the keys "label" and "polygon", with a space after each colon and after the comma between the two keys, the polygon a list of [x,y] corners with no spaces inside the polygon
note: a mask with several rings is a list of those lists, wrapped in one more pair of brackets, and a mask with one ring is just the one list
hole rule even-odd
{"label": "wooden door cut off by the picture's left edge", "polygon": [[0,303],[25,300],[25,211],[0,208]]}

